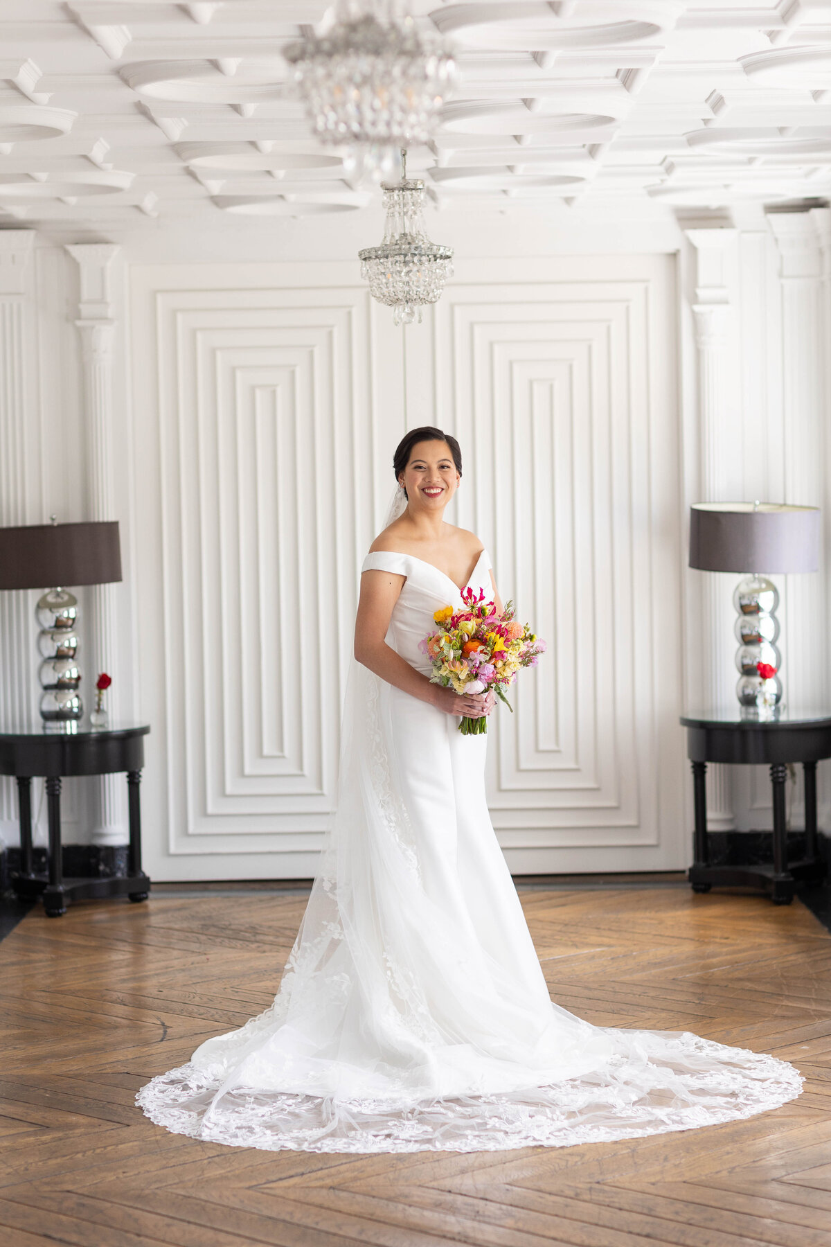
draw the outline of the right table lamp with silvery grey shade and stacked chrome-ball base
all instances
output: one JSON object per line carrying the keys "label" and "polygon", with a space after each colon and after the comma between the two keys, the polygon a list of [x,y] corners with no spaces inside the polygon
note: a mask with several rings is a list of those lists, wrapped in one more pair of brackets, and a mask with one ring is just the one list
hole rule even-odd
{"label": "right table lamp with silvery grey shade and stacked chrome-ball base", "polygon": [[[779,590],[767,572],[816,571],[820,509],[784,503],[695,503],[690,508],[690,567],[745,572],[733,605],[739,617],[736,696],[745,711],[772,717],[782,697],[779,678]],[[764,569],[764,575],[759,569]]]}

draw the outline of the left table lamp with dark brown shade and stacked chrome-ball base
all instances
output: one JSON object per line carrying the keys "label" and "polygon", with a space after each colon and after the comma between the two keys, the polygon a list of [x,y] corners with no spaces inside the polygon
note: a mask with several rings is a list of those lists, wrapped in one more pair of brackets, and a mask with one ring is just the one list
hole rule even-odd
{"label": "left table lamp with dark brown shade and stacked chrome-ball base", "polygon": [[72,732],[83,715],[76,662],[77,599],[50,585],[103,585],[121,580],[118,524],[29,524],[0,529],[0,589],[46,589],[40,624],[40,717],[46,731]]}

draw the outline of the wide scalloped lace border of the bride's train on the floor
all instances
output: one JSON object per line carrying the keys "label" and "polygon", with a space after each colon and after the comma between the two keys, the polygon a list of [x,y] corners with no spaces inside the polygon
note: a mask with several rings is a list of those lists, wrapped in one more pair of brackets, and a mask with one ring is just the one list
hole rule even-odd
{"label": "wide scalloped lace border of the bride's train on the floor", "polygon": [[217,1109],[216,1077],[183,1065],[153,1079],[137,1102],[173,1134],[235,1147],[475,1152],[571,1147],[693,1130],[777,1109],[801,1092],[797,1071],[774,1056],[686,1033],[625,1034],[634,1054],[618,1054],[617,1061],[593,1076],[521,1094],[394,1106],[371,1099],[338,1104],[238,1087],[226,1092]]}

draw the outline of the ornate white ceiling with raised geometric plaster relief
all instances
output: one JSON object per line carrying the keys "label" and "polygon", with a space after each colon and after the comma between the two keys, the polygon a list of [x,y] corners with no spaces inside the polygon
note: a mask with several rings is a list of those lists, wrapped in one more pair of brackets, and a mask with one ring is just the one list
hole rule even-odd
{"label": "ornate white ceiling with raised geometric plaster relief", "polygon": [[[0,0],[0,223],[125,236],[150,218],[378,200],[311,137],[280,50],[323,0]],[[460,81],[439,206],[609,213],[831,193],[831,0],[415,0]],[[663,208],[660,206],[664,206]]]}

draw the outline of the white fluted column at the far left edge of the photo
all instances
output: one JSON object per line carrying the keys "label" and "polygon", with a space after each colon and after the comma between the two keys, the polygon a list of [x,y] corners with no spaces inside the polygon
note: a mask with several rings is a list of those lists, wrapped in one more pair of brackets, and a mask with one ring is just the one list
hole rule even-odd
{"label": "white fluted column at the far left edge of the photo", "polygon": [[[32,499],[32,425],[26,373],[34,354],[26,291],[34,242],[31,229],[0,231],[0,525],[35,524]],[[37,717],[32,595],[0,592],[0,723],[25,728]],[[0,832],[17,839],[14,781],[0,781]]]}

